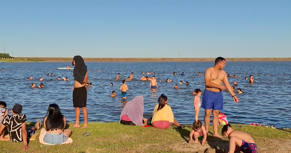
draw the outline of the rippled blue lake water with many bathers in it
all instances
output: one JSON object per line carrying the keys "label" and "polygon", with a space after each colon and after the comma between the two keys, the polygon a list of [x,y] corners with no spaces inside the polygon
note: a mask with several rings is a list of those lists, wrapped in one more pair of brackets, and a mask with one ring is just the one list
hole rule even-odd
{"label": "rippled blue lake water with many bathers in it", "polygon": [[[68,122],[75,122],[72,102],[74,81],[57,80],[58,77],[74,79],[71,71],[58,69],[66,67],[66,64],[70,63],[0,63],[0,68],[6,70],[0,72],[0,100],[6,101],[9,109],[12,109],[14,104],[21,104],[22,113],[26,114],[28,121],[43,119],[48,105],[56,103]],[[88,70],[93,70],[88,72],[90,82],[93,83],[87,95],[89,122],[118,121],[126,102],[137,95],[142,95],[145,99],[144,117],[151,117],[158,97],[164,93],[168,96],[169,105],[178,122],[192,124],[195,120],[195,111],[194,96],[191,93],[195,88],[200,88],[203,93],[205,87],[204,76],[198,76],[197,72],[204,74],[206,68],[212,67],[214,62],[86,63],[86,65]],[[239,103],[234,103],[229,93],[224,91],[224,109],[221,112],[226,114],[230,123],[258,123],[291,128],[290,66],[291,62],[226,62],[224,70],[227,74],[241,76],[241,78],[228,77],[229,82],[233,84],[237,81],[236,89],[241,88],[244,94],[236,93]],[[149,88],[150,82],[139,81],[142,71],[155,72],[157,80],[162,81],[158,82],[157,90]],[[174,76],[173,71],[176,71],[177,75]],[[121,81],[131,72],[134,72],[134,80],[127,82],[129,91],[127,99],[123,100],[119,90]],[[182,72],[185,73],[184,76],[180,75]],[[48,73],[54,73],[55,76],[46,76]],[[119,81],[115,80],[117,73],[121,74],[122,79]],[[249,75],[254,76],[254,84],[249,84],[248,80],[244,79]],[[26,80],[31,76],[34,80]],[[44,81],[40,82],[42,76]],[[51,78],[53,81],[50,81]],[[173,82],[165,82],[166,78],[172,79]],[[188,81],[189,85],[179,85],[180,81],[183,83]],[[33,82],[36,86],[43,83],[44,88],[30,88]],[[109,86],[111,82],[113,86]],[[179,85],[179,90],[174,89],[175,84]],[[117,97],[110,97],[112,90],[116,91]],[[203,120],[203,117],[204,110],[201,109],[199,119]]]}

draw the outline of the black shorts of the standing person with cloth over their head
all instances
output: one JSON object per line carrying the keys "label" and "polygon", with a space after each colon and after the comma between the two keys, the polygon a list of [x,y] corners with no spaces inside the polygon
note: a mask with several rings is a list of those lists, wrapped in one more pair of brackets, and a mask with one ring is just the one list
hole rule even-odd
{"label": "black shorts of the standing person with cloth over their head", "polygon": [[85,86],[74,88],[73,90],[73,105],[75,108],[86,107],[87,104],[87,89]]}

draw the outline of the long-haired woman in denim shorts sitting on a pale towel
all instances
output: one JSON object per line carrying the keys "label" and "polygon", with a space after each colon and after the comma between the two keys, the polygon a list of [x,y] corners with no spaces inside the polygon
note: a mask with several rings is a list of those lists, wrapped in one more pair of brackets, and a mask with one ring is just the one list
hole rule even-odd
{"label": "long-haired woman in denim shorts sitting on a pale towel", "polygon": [[43,118],[43,128],[47,131],[43,141],[49,144],[61,144],[72,135],[72,130],[65,129],[66,117],[57,104],[50,104],[47,115]]}

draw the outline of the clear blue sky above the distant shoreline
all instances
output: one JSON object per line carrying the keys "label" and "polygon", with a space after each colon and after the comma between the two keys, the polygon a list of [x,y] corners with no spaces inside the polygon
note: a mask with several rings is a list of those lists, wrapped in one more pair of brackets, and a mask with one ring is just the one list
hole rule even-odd
{"label": "clear blue sky above the distant shoreline", "polygon": [[291,1],[1,1],[15,57],[291,57]]}

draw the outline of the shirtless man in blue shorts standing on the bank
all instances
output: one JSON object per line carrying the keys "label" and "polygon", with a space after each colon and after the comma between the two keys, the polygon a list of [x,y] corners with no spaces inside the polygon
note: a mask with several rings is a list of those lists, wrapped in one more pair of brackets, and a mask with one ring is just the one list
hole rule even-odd
{"label": "shirtless man in blue shorts standing on the bank", "polygon": [[[205,71],[204,79],[205,79],[205,90],[202,96],[202,105],[201,107],[205,109],[204,115],[204,124],[206,128],[206,132],[209,131],[209,123],[210,123],[210,114],[211,110],[213,112],[213,136],[221,138],[221,136],[217,132],[218,128],[218,115],[219,111],[223,109],[223,95],[221,91],[228,90],[231,94],[235,103],[239,100],[236,97],[235,93],[232,91],[232,87],[229,84],[227,79],[227,75],[224,69],[225,67],[225,59],[222,57],[217,57],[215,59],[214,67],[210,67]],[[222,82],[225,86],[222,85]]]}

